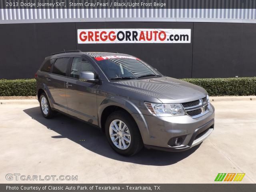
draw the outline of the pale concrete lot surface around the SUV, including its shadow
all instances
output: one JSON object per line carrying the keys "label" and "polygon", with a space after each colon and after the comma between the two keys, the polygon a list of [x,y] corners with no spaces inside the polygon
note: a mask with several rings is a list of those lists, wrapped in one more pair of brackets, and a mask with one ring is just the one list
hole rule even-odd
{"label": "pale concrete lot surface around the SUV, including its shadow", "polygon": [[[116,154],[99,128],[62,114],[43,118],[36,100],[0,102],[0,183],[214,183],[218,173],[245,173],[241,183],[256,182],[255,99],[216,98],[214,131],[199,146],[143,149],[132,157]],[[6,180],[6,174],[78,180]]]}

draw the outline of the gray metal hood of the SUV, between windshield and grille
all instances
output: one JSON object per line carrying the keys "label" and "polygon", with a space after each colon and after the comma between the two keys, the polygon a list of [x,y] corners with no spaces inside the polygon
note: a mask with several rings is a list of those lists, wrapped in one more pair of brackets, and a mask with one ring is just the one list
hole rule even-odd
{"label": "gray metal hood of the SUV, between windshield and grille", "polygon": [[122,80],[115,86],[158,98],[163,103],[182,103],[207,95],[204,88],[170,77]]}

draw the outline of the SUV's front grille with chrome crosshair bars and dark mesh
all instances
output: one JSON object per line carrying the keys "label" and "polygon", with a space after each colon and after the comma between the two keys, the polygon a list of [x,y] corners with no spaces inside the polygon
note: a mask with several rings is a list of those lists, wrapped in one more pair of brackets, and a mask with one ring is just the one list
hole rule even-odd
{"label": "SUV's front grille with chrome crosshair bars and dark mesh", "polygon": [[[199,102],[198,105],[191,106],[191,104],[198,103],[198,102]],[[186,114],[192,118],[201,117],[210,111],[210,102],[209,102],[208,96],[199,100],[182,103],[182,106]],[[186,107],[186,106],[189,106],[189,107]]]}

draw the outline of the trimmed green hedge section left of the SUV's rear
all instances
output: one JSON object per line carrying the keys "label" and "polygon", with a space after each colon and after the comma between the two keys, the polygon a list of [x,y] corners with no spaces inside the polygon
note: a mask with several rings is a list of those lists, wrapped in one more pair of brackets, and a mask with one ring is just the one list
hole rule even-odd
{"label": "trimmed green hedge section left of the SUV's rear", "polygon": [[0,96],[35,96],[35,79],[0,80]]}

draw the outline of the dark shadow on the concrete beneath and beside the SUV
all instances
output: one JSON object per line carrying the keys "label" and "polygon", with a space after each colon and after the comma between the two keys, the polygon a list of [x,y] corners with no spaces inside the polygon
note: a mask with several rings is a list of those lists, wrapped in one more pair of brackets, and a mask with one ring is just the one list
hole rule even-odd
{"label": "dark shadow on the concrete beneath and beside the SUV", "polygon": [[42,116],[39,107],[28,108],[23,111],[32,119],[59,134],[58,136],[52,136],[52,138],[68,138],[94,153],[123,162],[154,166],[171,165],[190,156],[200,146],[199,144],[183,152],[165,152],[143,148],[135,156],[125,157],[112,150],[106,136],[96,126],[60,113],[57,113],[52,119],[46,119]]}

